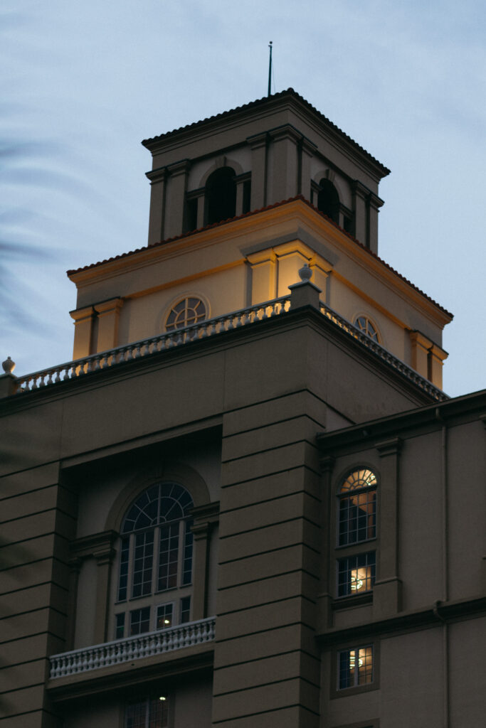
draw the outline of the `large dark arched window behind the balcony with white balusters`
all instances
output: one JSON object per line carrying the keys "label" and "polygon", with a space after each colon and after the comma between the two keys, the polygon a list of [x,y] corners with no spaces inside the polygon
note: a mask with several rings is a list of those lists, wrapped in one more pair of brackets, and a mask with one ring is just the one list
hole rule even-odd
{"label": "large dark arched window behind the balcony with white balusters", "polygon": [[130,506],[120,531],[115,637],[189,622],[192,497],[178,483],[156,483]]}

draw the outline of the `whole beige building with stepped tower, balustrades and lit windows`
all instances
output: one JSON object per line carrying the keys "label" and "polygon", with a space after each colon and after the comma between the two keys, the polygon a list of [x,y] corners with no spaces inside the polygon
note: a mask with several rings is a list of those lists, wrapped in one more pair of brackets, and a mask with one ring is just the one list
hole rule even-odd
{"label": "whole beige building with stepped tower, balustrades and lit windows", "polygon": [[6,728],[480,722],[486,398],[378,257],[387,168],[291,89],[144,146],[148,244],[0,378]]}

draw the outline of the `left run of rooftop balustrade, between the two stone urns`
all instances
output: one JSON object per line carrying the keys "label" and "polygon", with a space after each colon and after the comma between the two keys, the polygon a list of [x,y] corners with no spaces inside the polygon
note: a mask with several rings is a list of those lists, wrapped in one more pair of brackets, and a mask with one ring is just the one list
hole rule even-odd
{"label": "left run of rooftop balustrade, between the two stone urns", "polygon": [[246,326],[256,321],[263,321],[288,311],[290,308],[290,296],[274,298],[256,306],[248,306],[224,316],[217,316],[200,323],[176,329],[171,333],[162,333],[160,336],[152,336],[151,339],[142,339],[133,344],[123,347],[108,349],[106,352],[90,355],[82,359],[76,359],[65,364],[58,364],[49,369],[36,371],[26,376],[19,376],[16,382],[16,394],[31,392],[33,389],[41,389],[51,384],[58,384],[60,381],[76,379],[93,371],[107,369],[117,364],[122,364],[133,359],[158,354],[168,351],[183,344],[192,344],[195,341],[207,339],[224,331]]}

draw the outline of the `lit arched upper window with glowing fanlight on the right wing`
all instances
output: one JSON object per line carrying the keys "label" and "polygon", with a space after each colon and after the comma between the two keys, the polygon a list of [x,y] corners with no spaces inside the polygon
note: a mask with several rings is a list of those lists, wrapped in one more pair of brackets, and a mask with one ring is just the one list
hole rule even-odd
{"label": "lit arched upper window with glowing fanlight on the right wing", "polygon": [[353,470],[340,488],[338,545],[355,544],[376,536],[375,473]]}

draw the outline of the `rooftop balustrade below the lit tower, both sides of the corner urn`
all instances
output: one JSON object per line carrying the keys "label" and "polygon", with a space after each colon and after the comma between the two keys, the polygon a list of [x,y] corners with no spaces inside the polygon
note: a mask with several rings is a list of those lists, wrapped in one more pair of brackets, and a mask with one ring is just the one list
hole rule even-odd
{"label": "rooftop balustrade below the lit tower, both sides of the corner urn", "polygon": [[[50,387],[58,384],[60,381],[78,379],[94,371],[115,367],[119,364],[142,357],[150,357],[160,352],[167,352],[185,344],[202,341],[209,336],[216,336],[225,331],[232,331],[241,326],[251,325],[257,321],[279,316],[289,311],[290,307],[291,296],[274,298],[273,301],[267,301],[266,303],[249,306],[246,309],[240,309],[239,311],[224,316],[201,321],[200,323],[187,326],[186,328],[180,328],[171,333],[162,333],[160,336],[153,336],[151,339],[143,339],[133,344],[109,349],[106,352],[98,352],[98,354],[93,354],[83,359],[77,359],[49,369],[26,374],[26,376],[20,376],[16,380],[15,393],[22,394],[23,392],[31,392],[34,389]],[[412,381],[423,392],[427,392],[428,395],[434,397],[439,402],[447,399],[447,395],[441,389],[435,387],[428,379],[420,376],[420,374],[402,362],[398,357],[393,356],[387,349],[370,339],[367,334],[360,331],[350,321],[329,308],[329,306],[321,303],[319,304],[319,309],[321,314],[334,325],[338,326],[342,331],[345,331],[348,336],[351,336],[364,347],[374,352],[377,357],[396,371],[399,371],[402,376]]]}

